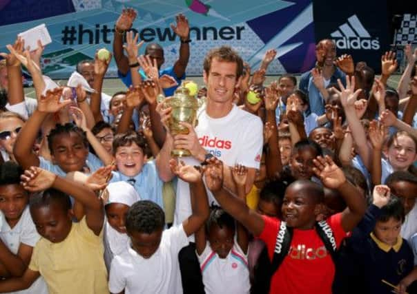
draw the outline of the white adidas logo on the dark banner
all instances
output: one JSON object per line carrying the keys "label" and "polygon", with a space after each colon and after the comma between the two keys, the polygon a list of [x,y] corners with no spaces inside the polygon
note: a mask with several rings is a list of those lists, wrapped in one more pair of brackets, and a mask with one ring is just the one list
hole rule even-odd
{"label": "white adidas logo on the dark banner", "polygon": [[360,23],[358,17],[356,17],[356,14],[349,17],[347,23],[340,25],[339,29],[330,35],[338,49],[380,49],[379,40],[371,37],[362,23]]}

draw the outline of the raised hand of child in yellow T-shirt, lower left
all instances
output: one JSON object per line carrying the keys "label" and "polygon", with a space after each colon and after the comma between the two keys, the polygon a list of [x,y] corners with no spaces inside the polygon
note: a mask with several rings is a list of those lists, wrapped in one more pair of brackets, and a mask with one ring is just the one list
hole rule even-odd
{"label": "raised hand of child in yellow T-shirt, lower left", "polygon": [[24,171],[20,178],[24,189],[30,192],[39,192],[52,187],[57,175],[40,167],[30,167]]}

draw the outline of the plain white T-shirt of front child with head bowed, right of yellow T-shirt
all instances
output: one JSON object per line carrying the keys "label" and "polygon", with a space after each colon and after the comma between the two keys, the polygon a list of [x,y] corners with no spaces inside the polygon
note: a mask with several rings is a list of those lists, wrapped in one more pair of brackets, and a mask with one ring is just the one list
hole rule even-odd
{"label": "plain white T-shirt of front child with head bowed, right of yellow T-shirt", "polygon": [[110,266],[111,293],[182,294],[178,253],[188,245],[182,224],[162,233],[159,248],[151,258],[142,258],[131,245],[116,255]]}

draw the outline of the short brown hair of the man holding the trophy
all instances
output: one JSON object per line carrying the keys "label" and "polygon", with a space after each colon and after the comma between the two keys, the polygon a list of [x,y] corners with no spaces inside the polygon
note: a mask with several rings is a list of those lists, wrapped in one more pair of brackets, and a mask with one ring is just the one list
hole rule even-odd
{"label": "short brown hair of the man holding the trophy", "polygon": [[233,62],[236,63],[236,78],[239,78],[243,74],[243,60],[242,57],[240,57],[235,50],[233,50],[229,46],[222,46],[218,48],[214,48],[209,51],[209,53],[206,55],[206,58],[204,59],[203,67],[204,72],[206,72],[207,75],[209,75],[211,63],[213,59],[218,59],[219,61],[224,62]]}

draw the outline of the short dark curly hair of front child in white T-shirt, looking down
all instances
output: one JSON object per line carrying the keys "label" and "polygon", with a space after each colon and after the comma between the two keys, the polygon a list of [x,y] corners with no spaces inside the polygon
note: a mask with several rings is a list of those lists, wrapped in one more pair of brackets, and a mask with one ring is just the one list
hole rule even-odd
{"label": "short dark curly hair of front child in white T-shirt, looking down", "polygon": [[165,213],[155,202],[140,200],[128,210],[126,229],[128,232],[151,234],[164,229]]}

